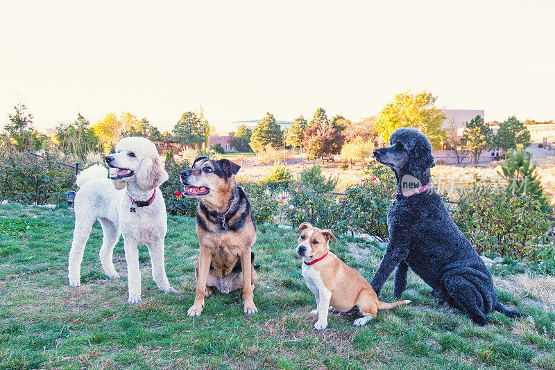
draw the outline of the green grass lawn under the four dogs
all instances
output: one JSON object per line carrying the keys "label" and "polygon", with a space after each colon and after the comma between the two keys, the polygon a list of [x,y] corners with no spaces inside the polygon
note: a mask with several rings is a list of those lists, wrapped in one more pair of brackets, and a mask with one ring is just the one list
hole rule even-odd
{"label": "green grass lawn under the four dogs", "polygon": [[[105,279],[96,223],[85,250],[81,287],[69,288],[67,256],[71,209],[0,207],[0,369],[555,369],[555,312],[533,294],[499,290],[499,298],[529,317],[497,312],[484,327],[450,315],[411,275],[408,306],[380,311],[366,326],[330,315],[327,330],[313,329],[315,307],[300,273],[291,230],[260,226],[254,247],[262,265],[255,288],[259,313],[245,316],[239,292],[216,292],[203,315],[186,312],[194,299],[198,242],[194,219],[171,217],[166,237],[168,278],[178,294],[151,279],[146,247],[139,248],[143,301],[127,303],[120,241],[114,263],[122,278]],[[332,250],[371,279],[383,252],[342,239]],[[496,268],[509,281],[515,267]],[[520,271],[522,273],[522,271]],[[388,281],[382,299],[391,294]]]}

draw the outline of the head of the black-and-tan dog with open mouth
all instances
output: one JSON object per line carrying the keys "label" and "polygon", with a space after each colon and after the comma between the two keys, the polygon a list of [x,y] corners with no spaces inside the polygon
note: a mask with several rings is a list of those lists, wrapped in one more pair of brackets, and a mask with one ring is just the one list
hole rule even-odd
{"label": "head of the black-and-tan dog with open mouth", "polygon": [[241,166],[229,159],[216,161],[208,157],[198,157],[189,170],[181,171],[183,194],[189,197],[212,198],[217,200],[234,186],[234,175]]}

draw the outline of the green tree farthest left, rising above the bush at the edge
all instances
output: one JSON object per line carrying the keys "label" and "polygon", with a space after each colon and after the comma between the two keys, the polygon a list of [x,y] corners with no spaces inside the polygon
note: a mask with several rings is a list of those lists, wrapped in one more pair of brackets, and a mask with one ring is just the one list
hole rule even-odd
{"label": "green tree farthest left, rising above the bush at the edge", "polygon": [[13,106],[14,114],[8,114],[9,122],[4,125],[10,139],[19,151],[33,152],[43,148],[48,139],[45,134],[33,128],[33,114],[26,113],[24,103]]}

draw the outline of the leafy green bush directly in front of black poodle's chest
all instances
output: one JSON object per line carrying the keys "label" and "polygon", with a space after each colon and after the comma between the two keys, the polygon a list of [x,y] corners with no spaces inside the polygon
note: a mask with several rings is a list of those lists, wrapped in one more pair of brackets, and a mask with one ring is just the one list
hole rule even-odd
{"label": "leafy green bush directly in front of black poodle's chest", "polygon": [[395,177],[385,166],[368,163],[360,184],[348,186],[339,206],[342,215],[339,228],[357,231],[382,240],[388,238],[387,213],[395,193]]}

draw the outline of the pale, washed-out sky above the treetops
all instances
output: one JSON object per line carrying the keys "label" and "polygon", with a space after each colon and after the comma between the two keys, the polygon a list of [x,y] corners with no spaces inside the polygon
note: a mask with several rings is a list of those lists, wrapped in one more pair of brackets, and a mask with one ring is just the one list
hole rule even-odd
{"label": "pale, washed-out sky above the treetops", "polygon": [[3,1],[0,124],[131,112],[170,130],[377,114],[395,94],[555,119],[555,1]]}

